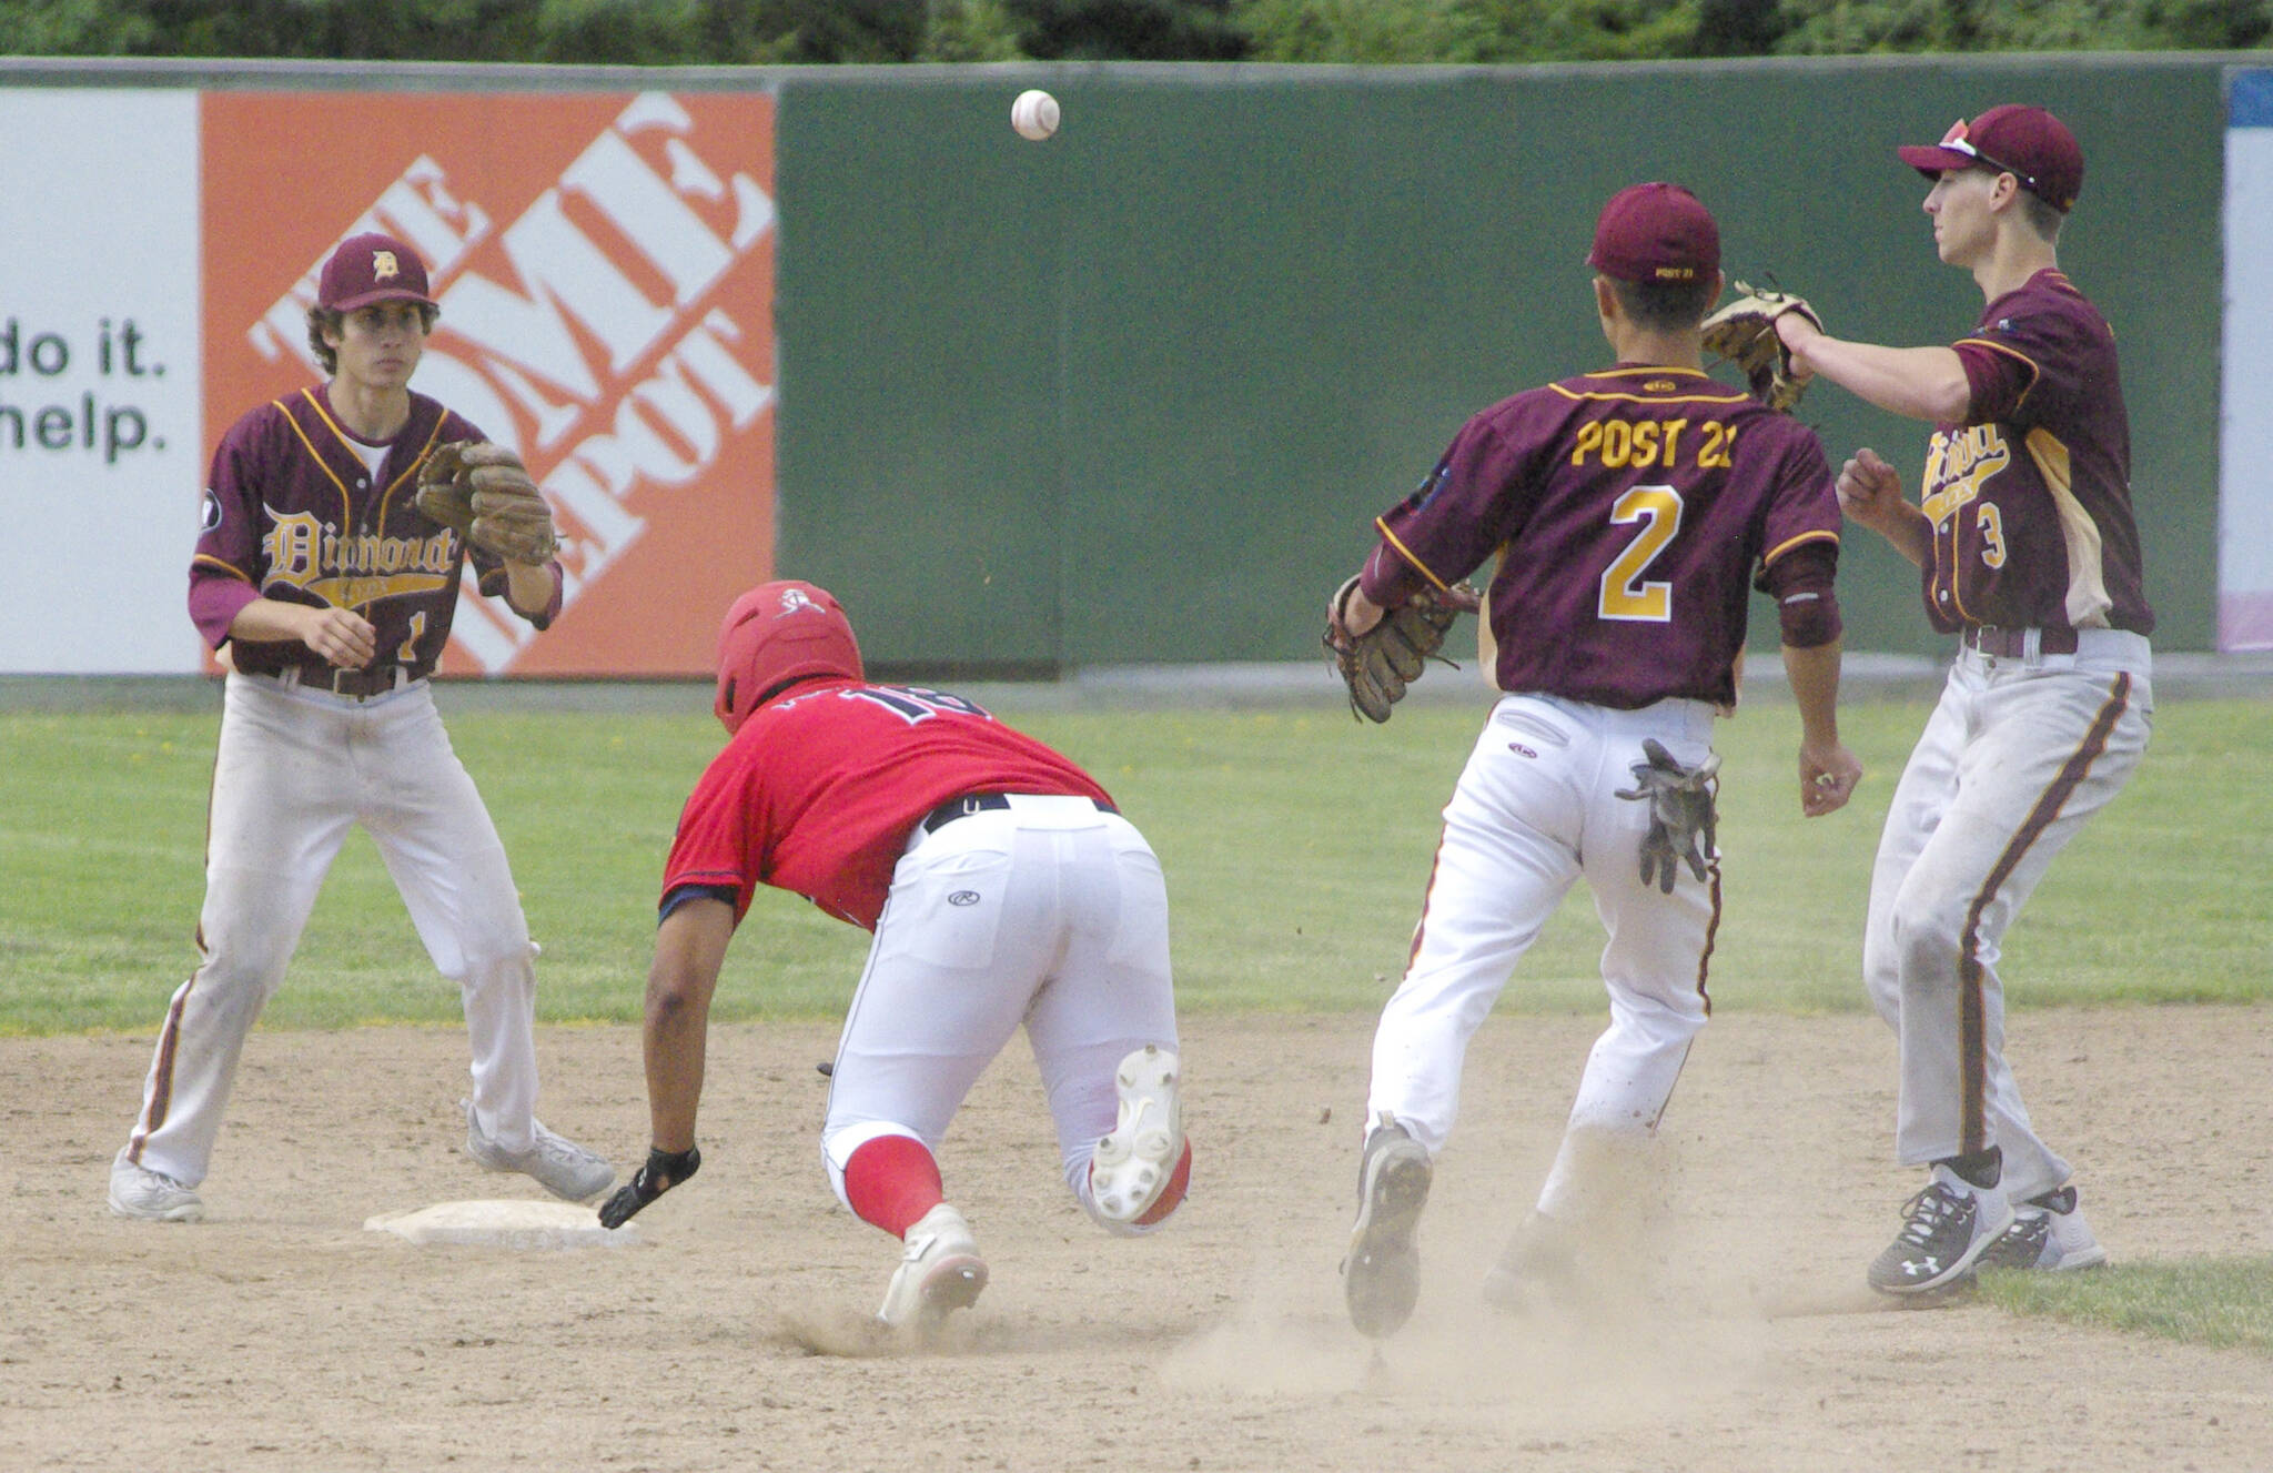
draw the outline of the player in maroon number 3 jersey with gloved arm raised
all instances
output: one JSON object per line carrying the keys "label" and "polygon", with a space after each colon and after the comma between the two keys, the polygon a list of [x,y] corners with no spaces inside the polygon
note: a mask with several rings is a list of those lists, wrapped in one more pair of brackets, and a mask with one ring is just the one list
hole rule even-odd
{"label": "player in maroon number 3 jersey with gloved arm raised", "polygon": [[2075,134],[1993,107],[1900,157],[1932,180],[1941,259],[1982,289],[1973,332],[1880,348],[1802,314],[1775,330],[1796,368],[1934,425],[1921,502],[1873,450],[1839,473],[1848,516],[1918,564],[1925,616],[1959,636],[1887,814],[1864,937],[1871,1000],[1903,1039],[1896,1152],[1932,1168],[1868,1278],[1921,1293],[1975,1262],[2107,1262],[2005,1064],[1996,962],[2053,857],[2139,766],[2155,616],[2116,341],[2057,259],[2084,182]]}

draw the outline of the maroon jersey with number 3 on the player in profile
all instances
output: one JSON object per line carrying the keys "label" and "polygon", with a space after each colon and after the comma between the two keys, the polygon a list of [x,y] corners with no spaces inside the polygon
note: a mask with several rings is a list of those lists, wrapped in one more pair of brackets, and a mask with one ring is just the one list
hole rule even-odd
{"label": "maroon jersey with number 3 on the player in profile", "polygon": [[1934,627],[2155,630],[2130,507],[2116,339],[2057,271],[1982,309],[1955,343],[1973,402],[1925,450]]}

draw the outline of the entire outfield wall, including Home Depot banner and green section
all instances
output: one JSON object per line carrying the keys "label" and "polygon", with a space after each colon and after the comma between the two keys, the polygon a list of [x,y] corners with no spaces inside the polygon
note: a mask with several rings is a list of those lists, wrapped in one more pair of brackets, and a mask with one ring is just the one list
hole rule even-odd
{"label": "entire outfield wall, including Home Depot banner and green section", "polygon": [[[491,639],[459,650],[455,668],[700,668],[725,589],[766,568],[836,589],[871,659],[891,666],[1287,659],[1314,650],[1323,596],[1355,566],[1371,516],[1427,471],[1466,414],[1602,359],[1582,257],[1609,191],[1682,180],[1723,216],[1732,275],[1805,289],[1837,332],[1948,341],[1971,327],[1980,298],[1934,261],[1923,182],[1891,148],[2009,98],[2053,107],[2084,141],[2084,198],[2062,264],[2123,339],[2157,643],[2212,648],[2232,61],[0,61],[11,139],[0,157],[0,330],[18,321],[20,343],[39,330],[68,336],[73,373],[93,375],[105,332],[116,339],[127,318],[155,323],[170,307],[164,352],[152,343],[145,361],[164,357],[177,373],[205,364],[195,386],[134,384],[155,396],[143,441],[114,452],[105,411],[123,386],[116,368],[86,382],[11,377],[0,350],[0,411],[84,402],[93,425],[84,446],[73,418],[73,448],[43,448],[34,418],[18,448],[0,414],[0,516],[41,550],[30,564],[18,552],[0,582],[0,668],[198,668],[180,589],[202,459],[218,425],[280,389],[264,382],[255,396],[239,375],[216,391],[216,355],[252,327],[230,318],[223,332],[182,302],[211,305],[227,282],[243,302],[286,305],[330,241],[384,220],[386,191],[421,180],[443,182],[425,205],[459,209],[457,239],[471,239],[468,205],[491,227],[452,261],[461,275],[439,280],[436,350],[457,341],[446,357],[464,371],[421,386],[452,402],[486,393],[475,418],[523,443],[568,502],[580,559],[593,536],[580,507],[609,511],[596,486],[646,527],[650,548],[639,577],[625,559],[580,577],[584,614],[557,634],[514,648]],[[1023,86],[1048,86],[1064,105],[1048,143],[1009,130]],[[746,100],[743,111],[702,102],[714,93]],[[355,168],[314,152],[275,180],[280,198],[264,209],[264,170],[245,168],[245,155],[311,152],[275,118],[350,114],[366,120]],[[218,150],[216,116],[239,118],[236,141]],[[243,127],[245,116],[270,118],[266,134]],[[180,118],[207,139],[195,189],[175,159]],[[623,145],[611,159],[643,159],[671,207],[732,248],[730,264],[707,275],[639,239],[636,211],[596,216],[591,155],[609,136]],[[111,189],[120,157],[148,180]],[[225,209],[220,175],[234,180]],[[466,177],[484,186],[466,189]],[[625,198],[630,175],[611,180]],[[25,211],[30,198],[41,209]],[[198,214],[182,218],[182,200]],[[577,298],[575,261],[555,252],[532,271],[511,250],[516,232],[541,236],[546,220],[596,243],[630,291],[616,307],[639,323],[607,336],[591,321],[600,307]],[[752,220],[759,234],[746,239]],[[93,239],[134,241],[132,264],[89,252]],[[202,289],[191,289],[186,248],[198,241]],[[561,352],[543,359],[514,323],[557,336]],[[452,332],[486,334],[489,357]],[[532,361],[496,371],[516,341]],[[1914,466],[1925,439],[1834,389],[1809,396],[1805,418],[1834,459],[1871,443]],[[586,446],[602,430],[607,443]],[[696,461],[700,473],[671,480]],[[1934,650],[1912,577],[1873,541],[1848,552],[1850,648]],[[1757,641],[1773,643],[1773,621],[1757,623]],[[73,659],[55,661],[57,648]]]}

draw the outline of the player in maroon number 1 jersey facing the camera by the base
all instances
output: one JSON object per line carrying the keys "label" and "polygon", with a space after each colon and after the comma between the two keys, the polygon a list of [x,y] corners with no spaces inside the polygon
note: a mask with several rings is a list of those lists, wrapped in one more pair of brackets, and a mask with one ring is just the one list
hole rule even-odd
{"label": "player in maroon number 1 jersey facing the camera by the base", "polygon": [[[198,971],[173,996],[111,1212],[193,1221],[236,1059],[284,980],[348,825],[459,984],[473,1043],[466,1152],[582,1200],[614,1168],[536,1123],[536,973],[505,846],[450,750],[427,675],[466,543],[411,505],[421,461],[482,432],[411,393],[439,307],[402,241],[325,261],[309,343],[332,375],[245,414],[214,452],[189,614],[232,664],[207,823]],[[559,564],[475,552],[482,591],[546,627]]]}

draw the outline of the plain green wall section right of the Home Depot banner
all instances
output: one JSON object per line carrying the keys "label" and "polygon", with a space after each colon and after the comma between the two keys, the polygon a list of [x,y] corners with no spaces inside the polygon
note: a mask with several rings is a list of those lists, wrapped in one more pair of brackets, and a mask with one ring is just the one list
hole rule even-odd
{"label": "plain green wall section right of the Home Depot banner", "polygon": [[[1582,259],[1614,189],[1689,184],[1730,275],[1834,332],[1950,341],[1980,296],[1891,150],[2030,100],[2089,159],[2062,264],[2123,341],[2157,643],[2209,648],[2218,61],[771,73],[780,568],[886,666],[1309,655],[1471,411],[1607,359]],[[1023,86],[1064,105],[1048,143],[1009,130]],[[1916,471],[1925,425],[1830,386],[1802,418]],[[1843,568],[1848,648],[1943,646],[1875,539]]]}

